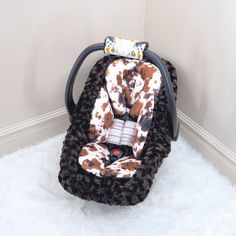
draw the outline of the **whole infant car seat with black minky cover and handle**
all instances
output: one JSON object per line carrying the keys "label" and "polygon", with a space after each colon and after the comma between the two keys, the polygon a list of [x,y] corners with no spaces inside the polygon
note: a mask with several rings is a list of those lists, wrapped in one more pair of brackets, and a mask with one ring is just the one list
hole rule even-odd
{"label": "whole infant car seat with black minky cover and handle", "polygon": [[[177,77],[146,42],[108,36],[86,48],[70,73],[65,102],[71,125],[59,181],[82,199],[110,205],[143,201],[177,140]],[[73,85],[84,59],[104,50],[75,105]]]}

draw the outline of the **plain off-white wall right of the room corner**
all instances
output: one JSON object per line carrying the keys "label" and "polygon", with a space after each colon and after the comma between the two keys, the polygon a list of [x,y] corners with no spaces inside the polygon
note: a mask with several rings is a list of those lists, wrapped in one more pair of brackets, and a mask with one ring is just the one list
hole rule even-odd
{"label": "plain off-white wall right of the room corner", "polygon": [[236,2],[146,3],[145,38],[177,67],[178,108],[236,152]]}

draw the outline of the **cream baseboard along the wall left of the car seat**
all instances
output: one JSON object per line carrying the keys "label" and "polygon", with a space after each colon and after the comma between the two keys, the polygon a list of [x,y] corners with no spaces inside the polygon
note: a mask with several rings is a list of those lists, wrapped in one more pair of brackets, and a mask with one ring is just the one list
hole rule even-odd
{"label": "cream baseboard along the wall left of the car seat", "polygon": [[66,131],[69,125],[65,108],[0,129],[0,156]]}

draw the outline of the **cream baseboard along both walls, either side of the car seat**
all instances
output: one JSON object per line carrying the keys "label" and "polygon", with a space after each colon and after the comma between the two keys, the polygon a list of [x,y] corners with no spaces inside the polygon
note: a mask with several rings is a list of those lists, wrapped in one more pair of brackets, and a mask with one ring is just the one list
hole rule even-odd
{"label": "cream baseboard along both walls, either side of the car seat", "polygon": [[[216,168],[236,183],[236,154],[178,110],[180,133]],[[65,132],[69,125],[65,108],[0,129],[0,156]]]}

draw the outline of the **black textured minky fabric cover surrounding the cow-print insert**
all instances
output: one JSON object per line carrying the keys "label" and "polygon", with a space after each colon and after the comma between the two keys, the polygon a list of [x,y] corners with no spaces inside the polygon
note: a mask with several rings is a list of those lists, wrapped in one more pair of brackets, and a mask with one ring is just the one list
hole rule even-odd
{"label": "black textured minky fabric cover surrounding the cow-print insert", "polygon": [[[171,150],[171,136],[168,125],[167,97],[162,83],[155,100],[152,124],[140,157],[142,165],[134,176],[130,179],[101,178],[81,168],[78,156],[82,147],[90,142],[88,131],[91,113],[100,88],[105,84],[106,68],[118,58],[120,57],[103,57],[89,74],[63,142],[59,181],[66,191],[82,199],[127,206],[142,202],[148,195],[158,168]],[[170,62],[163,61],[171,75],[176,94],[176,70]]]}

